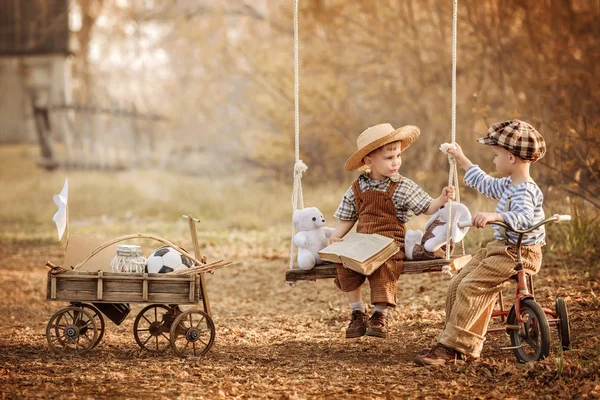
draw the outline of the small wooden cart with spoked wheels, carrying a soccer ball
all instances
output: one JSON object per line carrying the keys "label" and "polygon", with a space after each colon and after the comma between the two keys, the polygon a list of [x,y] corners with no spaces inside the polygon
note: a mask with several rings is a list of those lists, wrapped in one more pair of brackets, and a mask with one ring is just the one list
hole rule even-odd
{"label": "small wooden cart with spoked wheels, carrying a soccer ball", "polygon": [[[186,217],[186,216],[184,216]],[[190,220],[195,254],[199,256],[194,222]],[[174,246],[189,256],[196,265],[201,262],[185,250],[159,237],[152,237]],[[123,238],[105,243],[112,244]],[[109,273],[78,271],[85,261],[96,254],[98,247],[72,271],[55,267],[48,273],[46,299],[68,301],[70,305],[56,312],[48,322],[46,338],[58,354],[85,354],[104,335],[104,315],[119,325],[129,314],[130,303],[150,303],[135,318],[133,336],[138,345],[151,352],[168,347],[182,357],[202,356],[215,340],[215,325],[206,295],[204,274],[174,275],[147,273]],[[182,311],[179,305],[200,304],[202,308]]]}

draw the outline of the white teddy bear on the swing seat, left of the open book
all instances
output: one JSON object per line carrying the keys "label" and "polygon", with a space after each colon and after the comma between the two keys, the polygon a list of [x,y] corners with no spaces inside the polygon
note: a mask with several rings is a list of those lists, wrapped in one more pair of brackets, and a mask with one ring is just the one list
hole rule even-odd
{"label": "white teddy bear on the swing seat, left of the open book", "polygon": [[321,264],[317,253],[329,245],[333,228],[325,226],[323,213],[317,207],[306,207],[294,211],[294,225],[298,233],[294,235],[294,244],[298,246],[298,267],[312,269]]}

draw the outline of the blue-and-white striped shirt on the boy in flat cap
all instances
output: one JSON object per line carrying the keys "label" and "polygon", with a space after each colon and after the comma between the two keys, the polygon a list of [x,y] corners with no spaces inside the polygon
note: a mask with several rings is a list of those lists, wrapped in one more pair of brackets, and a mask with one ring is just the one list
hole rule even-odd
{"label": "blue-and-white striped shirt on the boy in flat cap", "polygon": [[[492,178],[477,165],[473,165],[467,170],[464,181],[484,196],[498,200],[496,213],[502,215],[506,224],[514,229],[529,229],[545,218],[542,208],[544,195],[535,182],[513,185],[510,177]],[[508,199],[510,199],[509,208],[505,211]],[[506,230],[506,236],[510,243],[517,243],[518,235],[516,233]],[[494,237],[498,240],[506,240],[496,225],[494,225]],[[546,231],[543,226],[540,226],[523,236],[523,244],[544,244],[545,239]]]}

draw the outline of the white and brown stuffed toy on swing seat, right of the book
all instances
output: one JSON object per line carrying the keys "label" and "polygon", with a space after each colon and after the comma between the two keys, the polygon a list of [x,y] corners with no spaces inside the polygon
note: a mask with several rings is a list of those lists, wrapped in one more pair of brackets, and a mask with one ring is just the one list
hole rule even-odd
{"label": "white and brown stuffed toy on swing seat, right of the book", "polygon": [[421,231],[406,231],[404,237],[404,247],[406,259],[408,260],[431,260],[433,258],[443,258],[446,255],[446,235],[448,232],[448,206],[452,207],[452,241],[450,243],[450,252],[453,250],[453,243],[460,242],[469,228],[459,228],[459,221],[470,221],[471,213],[463,204],[449,202],[440,208],[431,216],[425,233]]}

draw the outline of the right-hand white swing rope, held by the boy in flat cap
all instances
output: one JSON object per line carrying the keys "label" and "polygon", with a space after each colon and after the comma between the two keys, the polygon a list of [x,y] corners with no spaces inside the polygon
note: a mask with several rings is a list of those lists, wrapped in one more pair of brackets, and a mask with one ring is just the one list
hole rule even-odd
{"label": "right-hand white swing rope, held by the boy in flat cap", "polygon": [[[451,125],[451,144],[456,143],[456,43],[458,38],[457,33],[457,22],[458,22],[458,0],[453,1],[453,12],[452,12],[452,125]],[[448,163],[450,164],[450,171],[448,172],[448,186],[455,187],[456,198],[455,201],[460,203],[460,191],[458,181],[458,168],[456,166],[456,159],[453,155],[448,154]],[[450,203],[450,202],[449,202]],[[448,224],[446,230],[446,260],[450,260],[450,242],[452,240],[452,205],[448,205]],[[460,242],[462,255],[465,255],[465,244],[461,240]]]}

